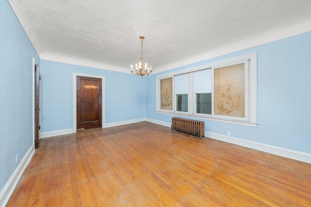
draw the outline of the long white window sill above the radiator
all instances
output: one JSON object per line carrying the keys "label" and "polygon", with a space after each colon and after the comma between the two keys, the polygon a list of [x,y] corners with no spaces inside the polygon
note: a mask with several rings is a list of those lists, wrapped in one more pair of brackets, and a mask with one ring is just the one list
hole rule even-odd
{"label": "long white window sill above the radiator", "polygon": [[200,119],[200,120],[208,120],[208,121],[219,121],[224,123],[232,123],[232,124],[238,124],[243,126],[251,126],[251,127],[257,127],[258,123],[256,122],[250,122],[250,121],[239,121],[239,120],[227,120],[227,119],[221,119],[221,118],[215,118],[211,116],[202,116],[197,114],[187,114],[187,113],[179,113],[179,112],[165,112],[165,111],[156,111],[156,113],[159,114],[168,114],[173,116],[183,116],[183,117],[189,117],[193,119]]}

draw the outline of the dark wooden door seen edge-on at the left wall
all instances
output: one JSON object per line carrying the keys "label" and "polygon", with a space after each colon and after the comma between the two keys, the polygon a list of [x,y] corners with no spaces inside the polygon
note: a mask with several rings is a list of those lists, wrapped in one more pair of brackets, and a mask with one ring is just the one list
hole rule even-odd
{"label": "dark wooden door seen edge-on at the left wall", "polygon": [[39,147],[40,119],[40,69],[35,65],[35,148]]}

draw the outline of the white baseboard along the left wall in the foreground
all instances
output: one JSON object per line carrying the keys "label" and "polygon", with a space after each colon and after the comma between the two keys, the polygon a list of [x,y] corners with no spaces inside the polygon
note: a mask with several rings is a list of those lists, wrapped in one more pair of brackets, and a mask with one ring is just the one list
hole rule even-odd
{"label": "white baseboard along the left wall in the foreground", "polygon": [[0,207],[5,207],[5,205],[9,201],[13,191],[15,190],[15,187],[18,183],[19,178],[25,171],[34,153],[35,153],[35,145],[32,145],[29,148],[26,155],[20,161],[19,165],[17,166],[17,169],[14,171],[11,178],[8,180],[8,182],[5,184],[4,188],[2,189],[0,193]]}

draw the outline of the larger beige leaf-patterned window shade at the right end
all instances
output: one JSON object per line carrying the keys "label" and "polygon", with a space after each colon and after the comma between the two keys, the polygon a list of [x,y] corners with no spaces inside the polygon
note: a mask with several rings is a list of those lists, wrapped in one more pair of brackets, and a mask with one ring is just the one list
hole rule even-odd
{"label": "larger beige leaf-patterned window shade at the right end", "polygon": [[245,64],[214,69],[214,114],[245,117]]}

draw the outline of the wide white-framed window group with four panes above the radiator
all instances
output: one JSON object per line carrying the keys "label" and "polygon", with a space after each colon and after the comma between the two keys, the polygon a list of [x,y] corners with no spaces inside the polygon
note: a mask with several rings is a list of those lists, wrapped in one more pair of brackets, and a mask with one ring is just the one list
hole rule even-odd
{"label": "wide white-framed window group with four panes above the radiator", "polygon": [[[253,52],[157,76],[157,112],[256,127],[256,56]],[[162,106],[165,80],[172,86],[169,110]]]}

